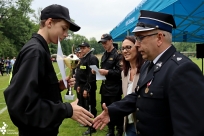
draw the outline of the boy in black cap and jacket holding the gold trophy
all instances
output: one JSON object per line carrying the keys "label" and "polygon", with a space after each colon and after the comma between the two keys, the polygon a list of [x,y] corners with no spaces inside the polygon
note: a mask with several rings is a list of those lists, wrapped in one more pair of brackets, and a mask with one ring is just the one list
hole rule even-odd
{"label": "boy in black cap and jacket holding the gold trophy", "polygon": [[[13,77],[4,91],[8,112],[18,127],[19,136],[57,136],[65,118],[91,125],[93,115],[73,103],[63,103],[61,91],[65,89],[54,71],[49,43],[58,43],[68,36],[68,30],[78,31],[69,11],[61,5],[50,5],[41,11],[41,24],[37,34],[21,49],[13,67]],[[73,86],[74,78],[67,79]]]}

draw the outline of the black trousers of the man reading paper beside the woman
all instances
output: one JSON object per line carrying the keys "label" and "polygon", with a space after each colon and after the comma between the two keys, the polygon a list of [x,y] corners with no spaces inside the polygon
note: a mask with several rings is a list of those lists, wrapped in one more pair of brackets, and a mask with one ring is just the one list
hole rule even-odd
{"label": "black trousers of the man reading paper beside the woman", "polygon": [[[121,95],[118,95],[118,96],[104,96],[104,95],[101,95],[101,105],[103,103],[105,103],[106,106],[109,106],[113,102],[120,101],[121,97],[122,97]],[[109,130],[114,131],[114,127],[116,126],[116,130],[118,132],[122,133],[123,132],[123,123],[124,123],[124,118],[123,117],[118,118],[117,122],[110,121],[108,123],[108,128],[109,128]]]}

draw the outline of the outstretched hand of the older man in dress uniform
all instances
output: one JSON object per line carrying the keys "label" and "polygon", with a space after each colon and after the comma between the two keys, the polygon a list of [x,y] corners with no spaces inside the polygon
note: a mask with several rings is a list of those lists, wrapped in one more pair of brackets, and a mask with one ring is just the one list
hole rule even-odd
{"label": "outstretched hand of the older man in dress uniform", "polygon": [[104,109],[103,112],[93,120],[93,127],[95,129],[98,129],[100,127],[100,130],[102,130],[110,122],[110,117],[106,104],[103,103],[102,107]]}

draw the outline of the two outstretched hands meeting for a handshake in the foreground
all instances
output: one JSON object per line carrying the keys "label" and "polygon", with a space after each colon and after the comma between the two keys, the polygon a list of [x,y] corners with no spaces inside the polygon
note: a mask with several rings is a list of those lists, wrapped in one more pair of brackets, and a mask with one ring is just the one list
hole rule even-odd
{"label": "two outstretched hands meeting for a handshake in the foreground", "polygon": [[98,129],[101,126],[101,130],[110,122],[108,108],[106,107],[105,103],[103,103],[102,105],[104,111],[96,118],[94,118],[94,115],[92,115],[89,111],[87,111],[81,106],[78,106],[77,102],[78,99],[71,103],[73,109],[73,115],[71,118],[73,120],[76,120],[77,122],[85,126],[93,126],[95,129]]}

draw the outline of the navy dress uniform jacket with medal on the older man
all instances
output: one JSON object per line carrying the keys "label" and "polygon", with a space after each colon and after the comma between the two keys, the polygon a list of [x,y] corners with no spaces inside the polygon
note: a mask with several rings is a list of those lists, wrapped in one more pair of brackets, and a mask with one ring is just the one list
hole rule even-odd
{"label": "navy dress uniform jacket with medal on the older man", "polygon": [[110,120],[136,111],[138,136],[204,136],[204,77],[196,64],[172,45],[141,77],[135,93],[108,106]]}

